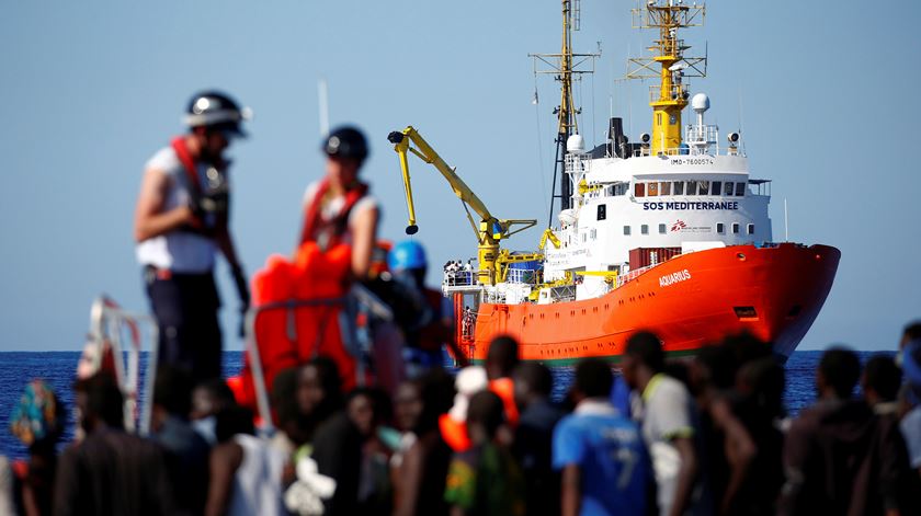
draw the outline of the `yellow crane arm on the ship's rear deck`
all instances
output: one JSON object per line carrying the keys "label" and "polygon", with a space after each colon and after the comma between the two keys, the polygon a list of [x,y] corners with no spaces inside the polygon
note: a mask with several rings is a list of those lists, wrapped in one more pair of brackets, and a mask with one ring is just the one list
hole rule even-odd
{"label": "yellow crane arm on the ship's rear deck", "polygon": [[[464,210],[467,213],[467,220],[470,221],[470,227],[477,237],[477,260],[479,261],[477,283],[481,285],[494,285],[497,282],[501,282],[505,276],[507,263],[519,260],[511,259],[508,251],[500,253],[499,242],[535,226],[537,221],[534,219],[496,218],[482,200],[464,183],[464,180],[457,175],[455,169],[448,167],[412,126],[408,126],[403,130],[390,133],[387,139],[394,144],[394,150],[400,157],[400,169],[402,170],[403,187],[406,188],[406,204],[409,209],[409,226],[406,228],[407,234],[414,234],[419,231],[419,227],[416,225],[416,207],[412,203],[412,184],[410,183],[409,176],[408,154],[412,152],[422,161],[433,165],[441,172],[442,176],[444,176],[451,186],[451,190],[454,191],[454,195],[464,205]],[[470,215],[470,209],[479,216],[479,222],[474,220],[474,216]],[[533,260],[543,256],[534,254],[528,257]]]}

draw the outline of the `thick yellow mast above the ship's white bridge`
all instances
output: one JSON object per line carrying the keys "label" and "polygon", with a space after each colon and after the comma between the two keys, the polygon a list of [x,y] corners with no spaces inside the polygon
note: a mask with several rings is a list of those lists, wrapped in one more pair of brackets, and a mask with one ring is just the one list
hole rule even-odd
{"label": "thick yellow mast above the ship's white bridge", "polygon": [[[680,28],[703,25],[705,5],[685,5],[682,0],[647,0],[646,5],[633,9],[634,28],[658,28],[659,38],[648,49],[650,58],[630,58],[636,68],[629,79],[659,78],[649,88],[652,107],[651,153],[676,153],[681,147],[681,112],[687,106],[689,84],[684,77],[706,77],[706,57],[685,57],[691,48],[678,37]],[[656,69],[656,67],[659,69]]]}

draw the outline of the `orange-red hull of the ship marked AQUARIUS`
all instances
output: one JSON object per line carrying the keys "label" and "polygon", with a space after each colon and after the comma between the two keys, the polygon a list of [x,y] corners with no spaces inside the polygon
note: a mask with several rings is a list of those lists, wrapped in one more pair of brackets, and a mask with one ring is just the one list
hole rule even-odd
{"label": "orange-red hull of the ship marked AQUARIUS", "polygon": [[812,325],[841,252],[827,245],[732,245],[681,254],[594,299],[552,305],[482,303],[475,362],[492,337],[513,335],[525,360],[567,365],[583,357],[618,362],[627,339],[652,331],[670,355],[691,355],[724,336],[750,332],[786,358]]}

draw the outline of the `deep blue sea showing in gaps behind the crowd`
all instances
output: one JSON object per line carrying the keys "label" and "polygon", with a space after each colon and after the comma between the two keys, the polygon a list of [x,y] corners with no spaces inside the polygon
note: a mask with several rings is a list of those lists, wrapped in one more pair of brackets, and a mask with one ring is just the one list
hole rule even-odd
{"label": "deep blue sea showing in gaps behind the crowd", "polygon": [[[861,353],[862,359],[871,354]],[[43,378],[58,393],[61,401],[72,406],[73,393],[70,389],[77,370],[80,354],[76,352],[8,352],[0,353],[0,454],[13,458],[24,458],[26,450],[9,432],[10,413],[19,400],[26,383],[32,378]],[[784,401],[791,413],[810,404],[815,400],[815,369],[821,352],[796,352],[786,364],[786,391]],[[224,372],[234,376],[242,367],[240,352],[225,353]],[[572,379],[571,368],[554,370],[554,397],[559,399]],[[70,440],[73,432],[73,411],[69,411],[71,424],[68,425],[65,442]]]}

